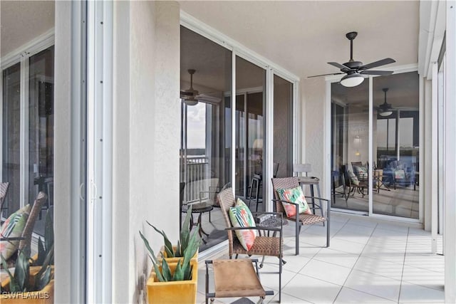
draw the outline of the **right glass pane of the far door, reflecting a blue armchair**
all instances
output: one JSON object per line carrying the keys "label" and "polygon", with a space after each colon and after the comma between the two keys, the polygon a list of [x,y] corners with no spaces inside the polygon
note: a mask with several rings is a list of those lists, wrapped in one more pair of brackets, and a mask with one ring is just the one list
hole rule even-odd
{"label": "right glass pane of the far door, reflecting a blue armchair", "polygon": [[373,212],[418,219],[418,73],[373,78],[373,102]]}

